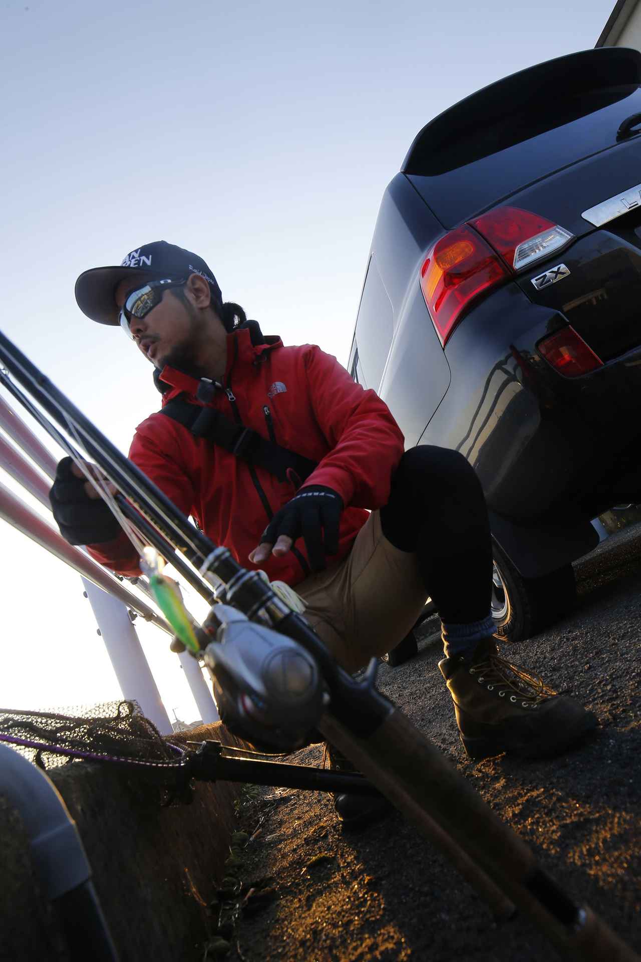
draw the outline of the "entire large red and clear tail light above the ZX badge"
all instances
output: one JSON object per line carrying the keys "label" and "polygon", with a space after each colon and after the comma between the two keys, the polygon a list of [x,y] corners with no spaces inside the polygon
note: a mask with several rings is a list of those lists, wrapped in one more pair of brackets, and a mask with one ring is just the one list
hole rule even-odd
{"label": "entire large red and clear tail light above the ZX badge", "polygon": [[421,290],[443,347],[476,298],[572,240],[546,217],[500,207],[436,241],[421,267]]}

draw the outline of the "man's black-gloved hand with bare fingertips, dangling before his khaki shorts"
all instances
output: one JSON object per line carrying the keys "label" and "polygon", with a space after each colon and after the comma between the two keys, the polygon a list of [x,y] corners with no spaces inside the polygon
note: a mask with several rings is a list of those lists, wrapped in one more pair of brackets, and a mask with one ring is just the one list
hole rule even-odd
{"label": "man's black-gloved hand with bare fingertips, dangling before his khaki shorts", "polygon": [[260,544],[249,556],[261,565],[270,554],[281,558],[303,537],[312,571],[327,567],[325,556],[338,551],[338,530],[343,499],[332,488],[311,485],[278,511],[262,532]]}

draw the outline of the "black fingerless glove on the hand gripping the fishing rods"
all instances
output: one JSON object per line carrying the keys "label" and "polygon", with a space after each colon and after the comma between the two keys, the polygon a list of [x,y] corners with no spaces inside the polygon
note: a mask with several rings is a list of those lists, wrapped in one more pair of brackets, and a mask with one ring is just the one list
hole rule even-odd
{"label": "black fingerless glove on the hand gripping the fishing rods", "polygon": [[69,544],[102,544],[112,541],[120,531],[103,499],[93,500],[86,494],[86,478],[71,472],[71,458],[62,458],[49,492],[51,510]]}

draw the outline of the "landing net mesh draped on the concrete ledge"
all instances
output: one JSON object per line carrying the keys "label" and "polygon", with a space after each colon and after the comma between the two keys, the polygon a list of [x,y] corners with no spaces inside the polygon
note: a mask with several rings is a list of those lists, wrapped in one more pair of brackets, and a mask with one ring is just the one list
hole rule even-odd
{"label": "landing net mesh draped on the concrete ledge", "polygon": [[135,701],[110,701],[64,712],[0,708],[0,741],[42,769],[78,761],[110,761],[171,770],[186,758],[167,742]]}

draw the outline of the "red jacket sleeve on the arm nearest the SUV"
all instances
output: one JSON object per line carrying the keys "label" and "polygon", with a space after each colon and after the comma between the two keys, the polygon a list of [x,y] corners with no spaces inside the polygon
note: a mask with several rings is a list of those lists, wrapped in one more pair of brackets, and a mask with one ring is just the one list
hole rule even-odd
{"label": "red jacket sleeve on the arm nearest the SUV", "polygon": [[309,403],[331,447],[304,487],[333,488],[346,507],[381,508],[403,455],[401,429],[378,394],[363,391],[335,358],[319,347],[304,356]]}

